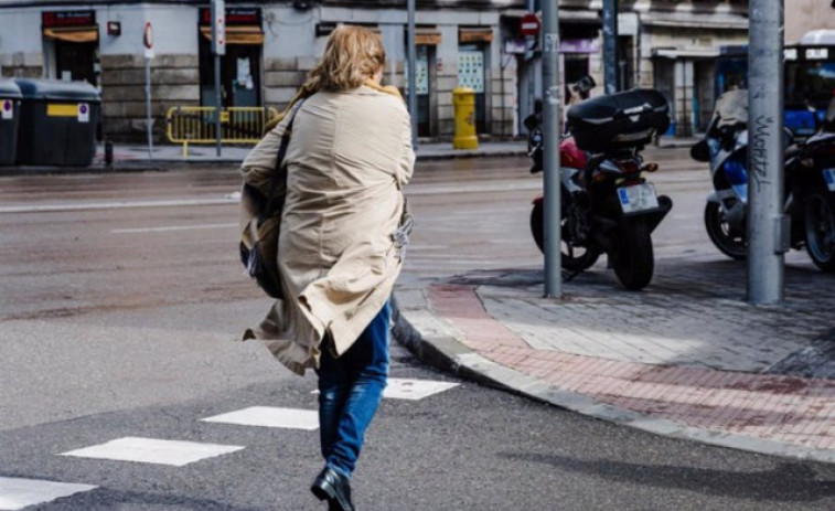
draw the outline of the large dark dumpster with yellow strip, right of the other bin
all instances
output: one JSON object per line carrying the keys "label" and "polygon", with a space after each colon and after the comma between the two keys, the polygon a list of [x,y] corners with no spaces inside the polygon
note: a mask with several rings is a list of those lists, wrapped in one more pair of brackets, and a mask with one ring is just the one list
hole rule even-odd
{"label": "large dark dumpster with yellow strip, right of the other bin", "polygon": [[101,118],[98,89],[86,82],[15,78],[21,107],[18,162],[87,167]]}

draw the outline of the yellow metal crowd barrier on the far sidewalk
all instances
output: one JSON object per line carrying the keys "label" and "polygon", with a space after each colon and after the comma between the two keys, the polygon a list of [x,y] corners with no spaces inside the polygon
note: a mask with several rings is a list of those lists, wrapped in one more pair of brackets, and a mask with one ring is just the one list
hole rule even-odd
{"label": "yellow metal crowd barrier on the far sidewalk", "polygon": [[[216,108],[213,106],[176,106],[165,115],[165,134],[172,143],[215,143]],[[269,119],[278,115],[271,107],[231,107],[221,110],[221,142],[257,143]]]}

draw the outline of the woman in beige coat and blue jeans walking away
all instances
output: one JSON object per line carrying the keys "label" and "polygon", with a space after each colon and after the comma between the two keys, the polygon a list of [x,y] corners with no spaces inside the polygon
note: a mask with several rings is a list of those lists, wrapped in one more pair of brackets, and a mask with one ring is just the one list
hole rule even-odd
{"label": "woman in beige coat and blue jeans walking away", "polygon": [[244,339],[263,340],[299,374],[319,374],[324,468],[311,491],[329,510],[354,510],[350,480],[388,376],[388,300],[405,245],[402,187],[415,155],[403,99],[379,86],[384,64],[378,34],[338,28],[301,88],[303,102],[242,167],[245,182],[268,193],[292,120],[287,188],[278,191],[285,299]]}

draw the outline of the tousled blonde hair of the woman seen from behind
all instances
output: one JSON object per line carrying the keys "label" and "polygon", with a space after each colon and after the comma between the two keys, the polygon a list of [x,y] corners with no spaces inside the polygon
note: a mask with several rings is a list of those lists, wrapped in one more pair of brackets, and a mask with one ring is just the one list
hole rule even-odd
{"label": "tousled blonde hair of the woman seen from behind", "polygon": [[308,74],[303,88],[311,92],[356,88],[385,62],[386,51],[378,33],[363,26],[338,26],[328,38],[324,55]]}

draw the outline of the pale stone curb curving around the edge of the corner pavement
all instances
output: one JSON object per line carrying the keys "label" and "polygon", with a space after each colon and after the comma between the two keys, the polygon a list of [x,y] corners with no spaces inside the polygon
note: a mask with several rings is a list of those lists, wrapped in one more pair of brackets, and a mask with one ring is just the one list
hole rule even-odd
{"label": "pale stone curb curving around the edge of the corner pavement", "polygon": [[[668,419],[653,418],[595,401],[584,394],[564,391],[510,368],[492,362],[464,347],[452,337],[422,336],[397,307],[393,297],[393,338],[420,361],[463,380],[525,396],[589,417],[646,433],[749,453],[833,464],[835,450],[803,447],[784,441],[766,440],[745,435],[717,433],[683,426]],[[438,318],[426,309],[432,317]],[[442,321],[442,320],[441,320]]]}

